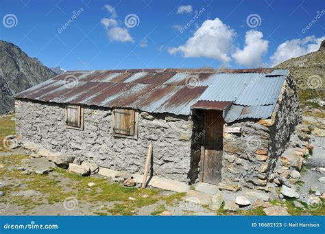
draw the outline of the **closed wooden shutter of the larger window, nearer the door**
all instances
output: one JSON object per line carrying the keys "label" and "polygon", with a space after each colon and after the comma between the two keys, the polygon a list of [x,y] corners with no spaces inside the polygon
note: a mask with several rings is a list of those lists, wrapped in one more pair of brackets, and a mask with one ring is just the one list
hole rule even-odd
{"label": "closed wooden shutter of the larger window, nearer the door", "polygon": [[134,110],[114,110],[114,133],[127,136],[134,135]]}

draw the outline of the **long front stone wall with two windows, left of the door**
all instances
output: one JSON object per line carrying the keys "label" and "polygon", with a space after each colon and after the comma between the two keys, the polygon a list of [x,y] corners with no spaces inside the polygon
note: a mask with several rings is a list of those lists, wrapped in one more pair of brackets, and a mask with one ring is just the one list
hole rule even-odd
{"label": "long front stone wall with two windows, left of the door", "polygon": [[17,100],[16,132],[23,141],[93,161],[101,167],[143,174],[152,141],[152,174],[189,182],[191,117],[139,113],[138,139],[113,137],[112,110],[84,106],[84,130],[66,128],[64,104]]}

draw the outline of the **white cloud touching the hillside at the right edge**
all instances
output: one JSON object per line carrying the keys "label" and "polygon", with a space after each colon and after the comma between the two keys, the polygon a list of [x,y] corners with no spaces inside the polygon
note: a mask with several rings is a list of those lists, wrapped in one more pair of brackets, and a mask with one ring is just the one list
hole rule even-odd
{"label": "white cloud touching the hillside at the right edge", "polygon": [[290,58],[296,58],[317,51],[323,40],[325,40],[325,36],[321,38],[307,36],[302,39],[287,40],[285,43],[278,46],[276,52],[271,56],[271,61],[275,66]]}

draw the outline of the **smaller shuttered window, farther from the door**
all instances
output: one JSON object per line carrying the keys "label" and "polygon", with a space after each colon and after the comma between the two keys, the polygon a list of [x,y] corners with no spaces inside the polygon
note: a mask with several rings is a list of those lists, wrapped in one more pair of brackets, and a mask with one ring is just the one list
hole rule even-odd
{"label": "smaller shuttered window, farther from the door", "polygon": [[66,109],[67,128],[83,130],[84,128],[84,109],[81,106],[67,106]]}

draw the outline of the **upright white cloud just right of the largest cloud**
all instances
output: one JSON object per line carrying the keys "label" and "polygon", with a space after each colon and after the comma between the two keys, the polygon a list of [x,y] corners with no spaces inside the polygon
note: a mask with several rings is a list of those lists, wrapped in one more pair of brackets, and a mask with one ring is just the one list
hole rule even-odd
{"label": "upright white cloud just right of the largest cloud", "polygon": [[263,34],[256,30],[250,30],[245,35],[245,47],[236,49],[232,58],[239,65],[246,67],[258,67],[263,65],[262,56],[267,52],[269,42],[263,40]]}

